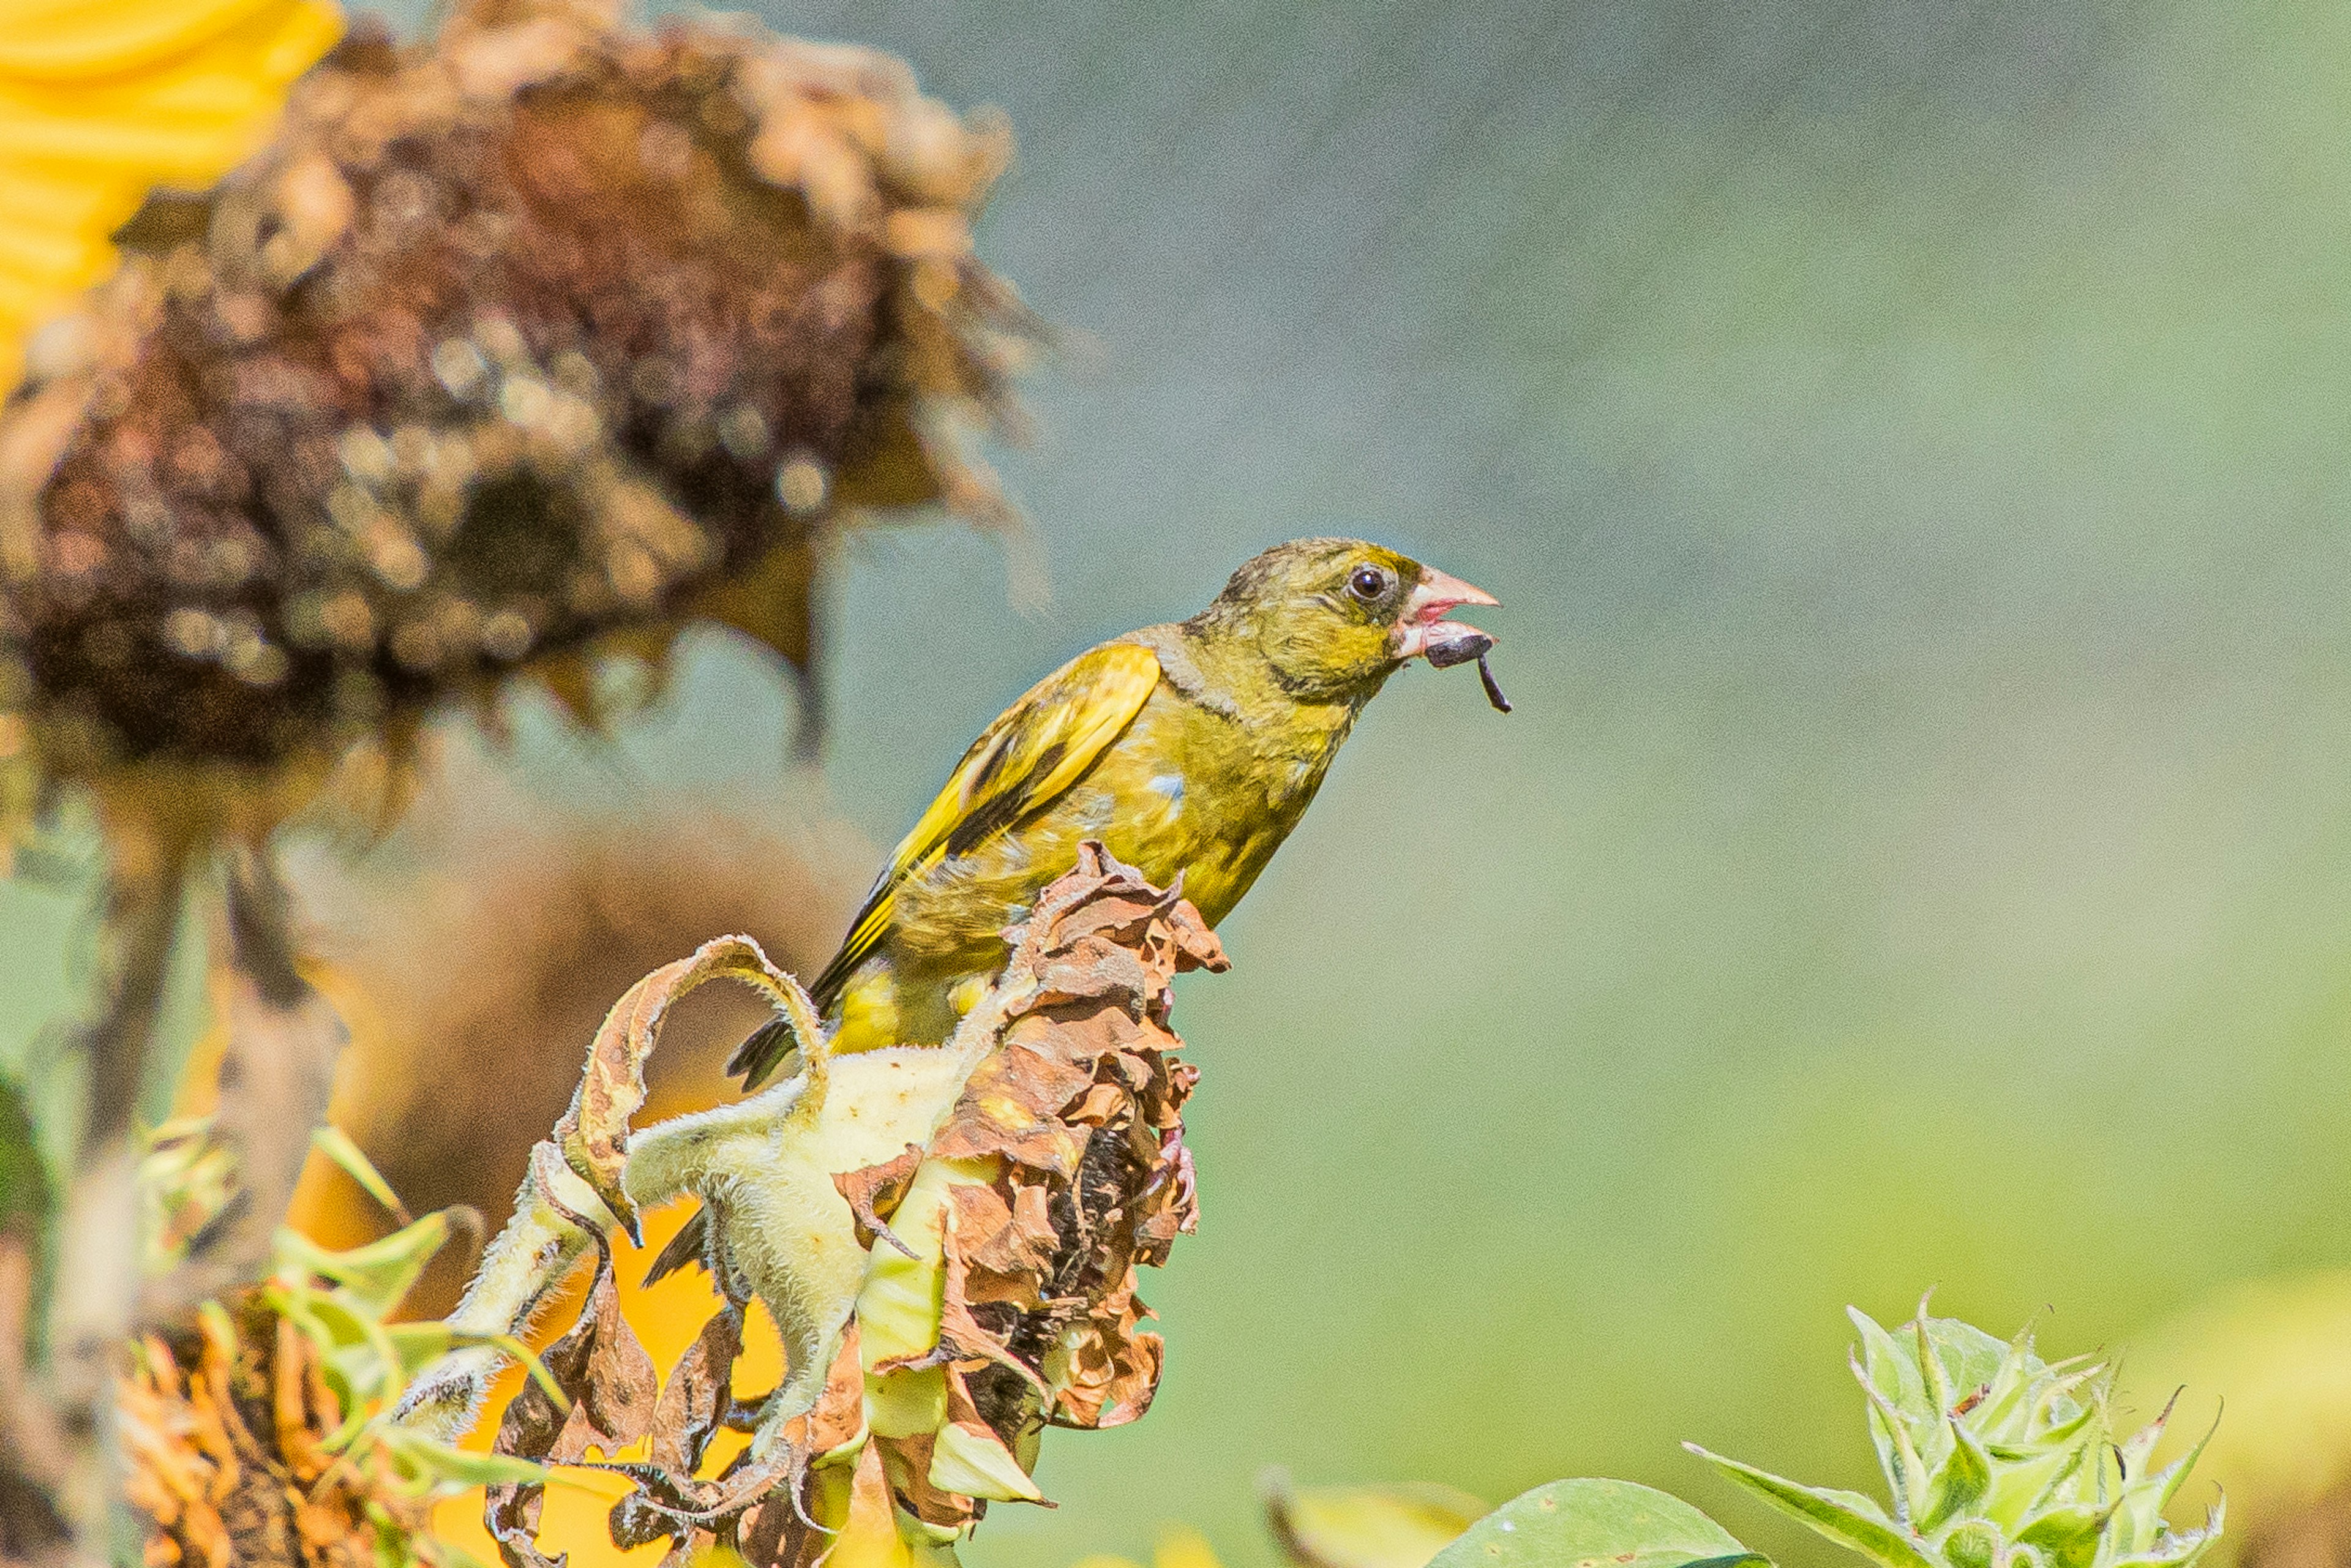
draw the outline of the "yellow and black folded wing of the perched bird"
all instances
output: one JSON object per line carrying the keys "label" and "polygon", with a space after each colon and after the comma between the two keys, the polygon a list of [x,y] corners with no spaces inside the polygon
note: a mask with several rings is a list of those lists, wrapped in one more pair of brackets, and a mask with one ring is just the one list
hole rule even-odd
{"label": "yellow and black folded wing of the perched bird", "polygon": [[851,971],[882,945],[903,882],[947,856],[971,853],[1077,783],[1103,748],[1133,724],[1157,684],[1157,654],[1133,642],[1105,642],[1006,708],[898,842],[849,926],[849,940],[816,978],[816,1004],[832,1006]]}

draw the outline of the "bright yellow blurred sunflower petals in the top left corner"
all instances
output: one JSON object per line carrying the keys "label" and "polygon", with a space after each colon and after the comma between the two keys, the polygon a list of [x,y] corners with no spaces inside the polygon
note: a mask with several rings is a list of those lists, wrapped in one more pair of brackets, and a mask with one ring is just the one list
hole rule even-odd
{"label": "bright yellow blurred sunflower petals in the top left corner", "polygon": [[0,0],[0,393],[148,190],[228,174],[341,33],[327,0]]}

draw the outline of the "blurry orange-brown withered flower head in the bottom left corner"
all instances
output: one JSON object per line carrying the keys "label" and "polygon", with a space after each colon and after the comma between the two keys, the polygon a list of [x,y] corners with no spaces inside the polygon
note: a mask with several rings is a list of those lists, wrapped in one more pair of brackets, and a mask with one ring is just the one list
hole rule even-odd
{"label": "blurry orange-brown withered flower head in the bottom left corner", "polygon": [[127,1495],[150,1521],[148,1568],[374,1568],[428,1549],[430,1497],[381,1453],[331,1453],[343,1408],[317,1347],[259,1295],[148,1338],[118,1392]]}

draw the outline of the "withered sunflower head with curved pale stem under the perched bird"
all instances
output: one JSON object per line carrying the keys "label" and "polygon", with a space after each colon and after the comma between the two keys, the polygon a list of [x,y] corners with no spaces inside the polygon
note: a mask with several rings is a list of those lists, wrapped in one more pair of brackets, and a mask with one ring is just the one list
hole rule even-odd
{"label": "withered sunflower head with curved pale stem under the perched bird", "polygon": [[[1041,1502],[1044,1429],[1136,1420],[1159,1385],[1136,1276],[1197,1218],[1183,1103],[1199,1074],[1173,1056],[1168,1009],[1178,973],[1225,957],[1192,905],[1100,844],[1009,936],[947,1046],[818,1051],[759,1095],[644,1128],[644,1063],[694,987],[736,978],[804,1039],[820,1025],[741,936],[632,985],[444,1324],[468,1349],[418,1373],[395,1420],[435,1441],[470,1427],[498,1363],[484,1335],[529,1324],[595,1251],[588,1305],[543,1356],[560,1396],[524,1389],[494,1453],[576,1465],[649,1439],[616,1467],[635,1483],[607,1519],[616,1547],[952,1568],[990,1502]],[[663,1387],[609,1232],[679,1194],[703,1201],[679,1234],[701,1237],[724,1302]],[[785,1378],[738,1396],[755,1300]],[[722,1448],[743,1432],[748,1448]],[[538,1481],[494,1488],[484,1528],[517,1568],[555,1561]]]}

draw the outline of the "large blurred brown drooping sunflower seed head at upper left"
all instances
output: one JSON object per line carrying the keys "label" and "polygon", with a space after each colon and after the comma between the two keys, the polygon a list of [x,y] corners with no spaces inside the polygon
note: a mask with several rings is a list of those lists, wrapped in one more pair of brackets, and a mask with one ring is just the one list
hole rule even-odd
{"label": "large blurred brown drooping sunflower seed head at upper left", "polygon": [[[0,418],[0,766],[273,771],[696,616],[811,658],[863,508],[994,520],[1006,134],[889,56],[588,7],[355,31]],[[0,783],[5,795],[5,783]],[[0,799],[5,806],[5,799]]]}

